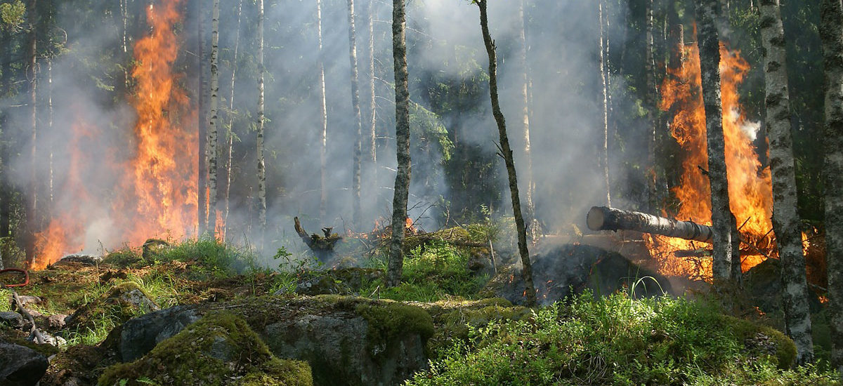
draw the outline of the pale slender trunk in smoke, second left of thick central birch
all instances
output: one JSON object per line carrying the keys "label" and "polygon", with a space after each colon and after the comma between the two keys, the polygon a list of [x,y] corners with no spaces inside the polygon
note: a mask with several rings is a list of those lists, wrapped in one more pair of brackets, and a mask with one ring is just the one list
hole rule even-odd
{"label": "pale slender trunk in smoke, second left of thick central birch", "polygon": [[352,109],[354,112],[353,125],[357,132],[354,136],[352,160],[352,222],[354,227],[362,225],[360,218],[360,166],[362,158],[362,123],[360,121],[360,89],[357,77],[357,35],[354,30],[354,0],[348,0],[348,59],[352,64]]}

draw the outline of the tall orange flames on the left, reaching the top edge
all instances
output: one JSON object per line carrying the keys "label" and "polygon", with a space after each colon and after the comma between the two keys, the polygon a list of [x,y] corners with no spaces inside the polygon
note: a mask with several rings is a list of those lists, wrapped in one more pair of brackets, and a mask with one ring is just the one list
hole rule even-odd
{"label": "tall orange flames on the left, reaching the top edge", "polygon": [[[180,51],[180,39],[175,25],[180,24],[181,0],[168,0],[147,9],[150,34],[137,40],[132,69],[135,88],[132,107],[137,123],[122,148],[131,148],[132,156],[115,168],[121,175],[107,197],[97,197],[99,205],[110,209],[110,236],[131,245],[157,237],[181,238],[194,229],[197,212],[196,111],[176,72],[175,61]],[[73,126],[74,141],[89,132],[89,126]],[[82,224],[93,221],[91,214],[80,206],[91,199],[78,177],[82,170],[95,164],[85,159],[82,150],[72,143],[70,168],[65,181],[74,197],[67,205],[57,206],[51,213],[50,225],[37,237],[38,260],[32,268],[40,269],[62,255],[78,252],[92,245],[83,245],[85,230]],[[102,163],[102,160],[99,161]],[[87,169],[86,169],[87,168]],[[106,245],[109,246],[109,245]]]}

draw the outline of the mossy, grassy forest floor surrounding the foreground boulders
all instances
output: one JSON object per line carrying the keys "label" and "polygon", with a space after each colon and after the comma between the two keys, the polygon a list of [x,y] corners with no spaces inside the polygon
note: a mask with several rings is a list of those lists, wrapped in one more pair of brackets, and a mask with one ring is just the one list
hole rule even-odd
{"label": "mossy, grassy forest floor surrounding the foreground boulders", "polygon": [[[436,239],[412,246],[407,250],[403,283],[395,288],[384,287],[383,251],[352,253],[357,254],[352,256],[356,266],[350,266],[346,255],[328,267],[280,249],[275,260],[279,266],[266,268],[257,265],[248,251],[212,240],[189,240],[146,253],[126,248],[101,260],[61,262],[30,272],[25,287],[0,289],[0,312],[20,311],[11,302],[14,290],[28,301],[24,308],[40,332],[48,340],[58,337],[55,346],[27,341],[31,325],[25,322],[0,321],[0,341],[28,346],[50,358],[41,386],[206,384],[208,379],[216,379],[215,384],[366,384],[332,379],[321,369],[329,365],[306,357],[294,357],[299,361],[289,362],[292,365],[283,362],[284,354],[260,342],[266,334],[250,319],[250,313],[260,310],[240,309],[261,302],[327,302],[352,309],[369,324],[383,324],[376,326],[385,331],[379,339],[389,340],[400,335],[399,330],[425,331],[419,333],[424,342],[422,365],[412,370],[415,375],[396,376],[390,383],[841,384],[840,374],[830,372],[825,362],[792,367],[791,340],[771,325],[727,315],[711,298],[636,298],[628,291],[598,297],[585,291],[530,309],[494,298],[487,288],[494,278],[469,269],[479,253],[471,247]],[[18,279],[0,276],[3,284]],[[123,295],[137,294],[135,289],[150,302]],[[367,311],[393,305],[406,306],[401,312],[415,316],[372,319]],[[227,369],[220,371],[229,372],[227,378],[196,378],[193,370],[185,378],[167,367],[168,360],[154,357],[164,355],[158,348],[169,341],[164,340],[136,362],[121,364],[115,340],[126,322],[175,306],[230,308],[240,316],[224,323],[201,319],[196,325],[218,323],[211,331],[255,330],[261,338],[252,338],[257,340],[252,346],[264,347],[255,349],[263,359],[226,362]],[[427,324],[432,324],[431,331],[424,327]],[[198,334],[198,328],[185,331]],[[373,330],[369,331],[371,335]],[[125,331],[122,336],[125,339]],[[177,358],[191,351],[183,348]],[[375,351],[370,352],[371,362],[382,362]],[[159,361],[158,367],[148,364],[153,359]]]}

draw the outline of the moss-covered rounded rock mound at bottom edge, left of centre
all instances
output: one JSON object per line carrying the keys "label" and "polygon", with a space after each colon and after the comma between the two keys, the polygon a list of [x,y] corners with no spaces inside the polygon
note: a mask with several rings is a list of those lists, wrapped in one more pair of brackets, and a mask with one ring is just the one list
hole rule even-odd
{"label": "moss-covered rounded rock mound at bottom edge, left of centre", "polygon": [[162,385],[312,384],[306,363],[274,357],[234,314],[208,313],[131,363],[105,369],[99,385],[153,381]]}

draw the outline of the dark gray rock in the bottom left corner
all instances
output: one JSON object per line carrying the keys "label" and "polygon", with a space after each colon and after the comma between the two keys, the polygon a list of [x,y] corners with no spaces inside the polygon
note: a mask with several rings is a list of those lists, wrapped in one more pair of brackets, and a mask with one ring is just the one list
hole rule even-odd
{"label": "dark gray rock in the bottom left corner", "polygon": [[29,347],[0,340],[0,384],[30,386],[38,383],[46,373],[47,358]]}

